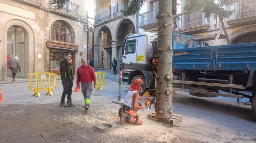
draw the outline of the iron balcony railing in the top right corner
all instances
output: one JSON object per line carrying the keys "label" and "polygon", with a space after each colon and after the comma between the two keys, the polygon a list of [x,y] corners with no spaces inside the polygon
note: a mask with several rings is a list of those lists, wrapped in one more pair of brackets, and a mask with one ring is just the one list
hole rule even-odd
{"label": "iron balcony railing in the top right corner", "polygon": [[228,20],[239,19],[256,15],[256,0],[239,0],[231,6],[225,7],[226,10],[234,11]]}

